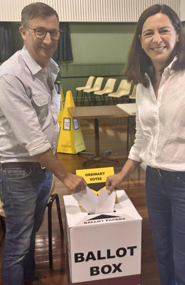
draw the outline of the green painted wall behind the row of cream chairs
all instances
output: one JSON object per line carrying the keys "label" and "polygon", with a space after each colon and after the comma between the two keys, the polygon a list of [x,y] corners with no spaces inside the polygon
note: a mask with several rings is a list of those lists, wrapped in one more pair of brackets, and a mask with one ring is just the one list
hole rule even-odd
{"label": "green painted wall behind the row of cream chairs", "polygon": [[[185,30],[185,22],[182,23]],[[14,52],[23,46],[19,34],[20,23],[12,23]],[[72,62],[59,62],[60,72],[58,80],[61,81],[63,92],[72,90],[76,96],[75,88],[84,86],[88,76],[120,75],[127,53],[131,45],[136,23],[70,23],[71,43],[73,51]],[[87,76],[87,78],[65,78]],[[61,78],[62,77],[62,78]],[[108,77],[104,78],[102,88]],[[117,79],[116,91],[122,77]]]}

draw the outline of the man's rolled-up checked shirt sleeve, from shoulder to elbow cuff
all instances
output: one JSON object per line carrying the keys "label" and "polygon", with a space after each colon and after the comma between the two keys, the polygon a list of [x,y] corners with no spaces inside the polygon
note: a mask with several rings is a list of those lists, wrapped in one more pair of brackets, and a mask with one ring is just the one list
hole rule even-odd
{"label": "man's rolled-up checked shirt sleeve, from shoulder to elbow cuff", "polygon": [[31,99],[16,76],[7,74],[0,77],[0,108],[18,143],[26,148],[30,156],[51,147]]}

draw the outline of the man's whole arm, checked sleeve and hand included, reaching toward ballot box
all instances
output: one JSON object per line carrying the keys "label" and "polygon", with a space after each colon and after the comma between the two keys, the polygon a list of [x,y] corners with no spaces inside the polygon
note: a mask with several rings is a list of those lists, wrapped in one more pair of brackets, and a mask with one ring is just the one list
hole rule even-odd
{"label": "man's whole arm, checked sleeve and hand included, reaching toward ballot box", "polygon": [[[51,144],[44,135],[35,109],[24,86],[15,76],[0,77],[0,105],[17,142],[34,156],[38,162],[53,172],[73,193],[86,187],[81,176],[65,170],[51,150]],[[5,92],[6,90],[6,92]],[[6,96],[5,96],[6,93]]]}

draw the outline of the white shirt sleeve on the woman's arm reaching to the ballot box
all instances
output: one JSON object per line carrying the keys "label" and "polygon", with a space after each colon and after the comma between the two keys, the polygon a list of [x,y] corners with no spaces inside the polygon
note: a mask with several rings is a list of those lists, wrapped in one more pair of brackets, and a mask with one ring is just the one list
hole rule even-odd
{"label": "white shirt sleeve on the woman's arm reaching to the ballot box", "polygon": [[136,133],[135,133],[135,141],[134,141],[133,146],[130,149],[128,158],[142,162],[141,158],[139,158],[139,153],[140,153],[142,146],[143,146],[143,132],[142,132],[141,125],[140,125],[139,119],[138,119],[138,105],[137,105],[138,104],[138,100],[137,100],[138,93],[139,93],[139,88],[137,86],[137,89],[136,89],[136,116],[135,116]]}

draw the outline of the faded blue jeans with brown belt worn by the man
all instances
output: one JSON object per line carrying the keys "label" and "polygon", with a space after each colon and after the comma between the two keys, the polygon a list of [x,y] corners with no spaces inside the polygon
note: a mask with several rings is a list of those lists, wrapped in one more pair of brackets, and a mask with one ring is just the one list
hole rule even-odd
{"label": "faded blue jeans with brown belt worn by the man", "polygon": [[46,169],[0,170],[0,196],[6,213],[3,285],[22,285],[35,272],[35,235],[42,224],[51,185],[52,173]]}

